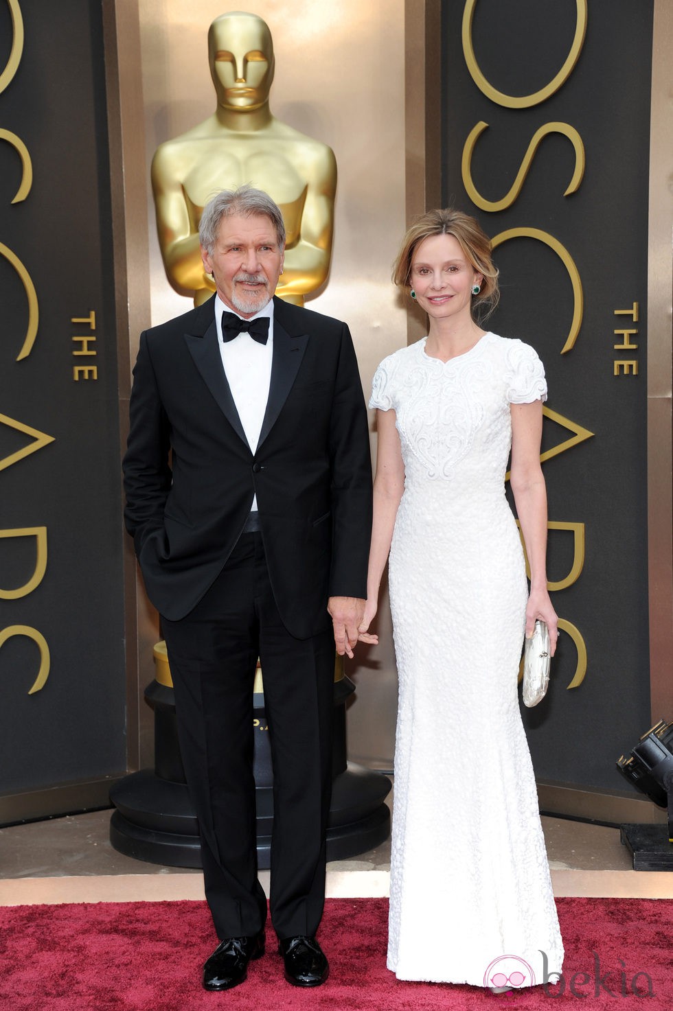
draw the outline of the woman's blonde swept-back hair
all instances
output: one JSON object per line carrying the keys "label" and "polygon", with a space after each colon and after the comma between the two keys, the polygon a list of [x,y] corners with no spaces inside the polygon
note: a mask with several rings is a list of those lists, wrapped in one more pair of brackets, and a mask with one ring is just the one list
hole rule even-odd
{"label": "woman's blonde swept-back hair", "polygon": [[453,236],[466,259],[483,276],[481,291],[473,295],[473,313],[483,318],[489,316],[500,298],[498,268],[491,259],[491,240],[474,217],[453,207],[428,210],[414,221],[393,265],[393,283],[409,290],[414,254],[431,236]]}

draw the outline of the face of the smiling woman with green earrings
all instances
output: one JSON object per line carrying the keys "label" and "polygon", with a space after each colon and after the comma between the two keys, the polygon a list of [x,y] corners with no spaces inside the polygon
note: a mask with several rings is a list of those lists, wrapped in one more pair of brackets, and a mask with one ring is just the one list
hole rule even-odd
{"label": "face of the smiling woman with green earrings", "polygon": [[472,287],[482,280],[453,236],[430,236],[416,248],[410,283],[418,304],[434,318],[471,316]]}

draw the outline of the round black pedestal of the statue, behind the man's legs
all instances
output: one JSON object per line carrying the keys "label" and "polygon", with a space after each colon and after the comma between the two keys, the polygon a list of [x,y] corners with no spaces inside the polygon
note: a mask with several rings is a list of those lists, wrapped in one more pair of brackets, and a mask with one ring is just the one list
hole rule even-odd
{"label": "round black pedestal of the statue, behind the man's legs", "polygon": [[[334,683],[334,782],[327,829],[328,860],[365,852],[390,833],[390,811],[384,803],[391,789],[390,780],[381,772],[346,761],[345,703],[354,691],[347,677],[342,676]],[[124,776],[110,791],[110,801],[116,809],[110,820],[110,842],[119,852],[139,860],[200,867],[198,827],[182,767],[173,690],[155,680],[146,690],[145,698],[155,714],[155,767]],[[253,706],[257,859],[260,868],[267,868],[273,823],[273,776],[261,693],[254,695]]]}

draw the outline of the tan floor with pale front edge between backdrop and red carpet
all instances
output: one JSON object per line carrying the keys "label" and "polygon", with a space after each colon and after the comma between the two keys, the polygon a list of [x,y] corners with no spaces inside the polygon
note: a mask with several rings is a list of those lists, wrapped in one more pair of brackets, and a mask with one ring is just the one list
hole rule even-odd
{"label": "tan floor with pale front edge between backdrop and red carpet", "polygon": [[[0,906],[203,898],[200,871],[144,863],[112,849],[110,814],[96,811],[0,829]],[[673,872],[634,870],[617,828],[551,817],[542,818],[542,827],[555,895],[673,898]],[[329,863],[327,895],[385,898],[389,872],[390,839],[369,852]],[[268,894],[268,871],[260,879]]]}

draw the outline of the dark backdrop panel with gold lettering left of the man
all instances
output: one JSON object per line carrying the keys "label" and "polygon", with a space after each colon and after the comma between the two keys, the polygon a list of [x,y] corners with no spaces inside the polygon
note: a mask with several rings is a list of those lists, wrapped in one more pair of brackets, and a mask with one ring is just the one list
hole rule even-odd
{"label": "dark backdrop panel with gold lettering left of the man", "polygon": [[[34,285],[39,325],[29,354],[17,361],[28,302],[16,270],[1,256],[0,413],[12,424],[0,420],[0,639],[14,626],[36,630],[47,643],[50,669],[44,686],[28,694],[39,666],[37,645],[12,635],[0,646],[5,795],[97,779],[125,767],[101,14],[89,0],[30,0],[20,7],[24,49],[0,93],[0,128],[27,148],[32,185],[23,201],[11,203],[21,161],[14,146],[0,140],[0,243]],[[0,4],[0,68],[11,38],[8,5]],[[83,367],[96,372],[74,372]],[[34,439],[17,425],[53,441],[11,462]],[[7,599],[34,570],[35,539],[7,536],[26,528],[46,528],[46,571],[30,592]]]}

